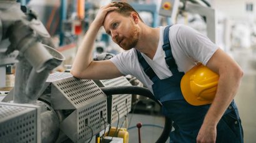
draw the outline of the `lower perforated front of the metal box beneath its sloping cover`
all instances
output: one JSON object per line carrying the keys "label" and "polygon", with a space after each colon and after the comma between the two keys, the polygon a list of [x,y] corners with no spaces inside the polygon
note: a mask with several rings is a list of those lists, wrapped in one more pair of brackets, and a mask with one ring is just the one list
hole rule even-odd
{"label": "lower perforated front of the metal box beneath its sloping cover", "polygon": [[61,122],[61,131],[73,142],[85,142],[104,129],[104,121],[107,126],[107,99],[101,98],[73,111]]}

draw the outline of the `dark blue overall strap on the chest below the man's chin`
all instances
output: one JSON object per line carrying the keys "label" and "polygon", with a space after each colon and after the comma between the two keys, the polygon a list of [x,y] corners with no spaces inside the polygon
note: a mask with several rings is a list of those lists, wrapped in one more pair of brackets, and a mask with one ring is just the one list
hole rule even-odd
{"label": "dark blue overall strap on the chest below the man's chin", "polygon": [[151,81],[153,81],[153,78],[154,78],[155,76],[157,76],[157,75],[155,74],[155,71],[152,70],[152,68],[150,67],[149,63],[147,63],[147,62],[145,61],[145,58],[142,57],[141,53],[140,53],[138,50],[136,50],[136,52],[137,52],[137,57],[138,57],[139,63],[140,63],[140,65],[142,66],[142,68],[143,68],[145,74],[146,74],[147,76],[149,76],[149,78],[150,78]]}

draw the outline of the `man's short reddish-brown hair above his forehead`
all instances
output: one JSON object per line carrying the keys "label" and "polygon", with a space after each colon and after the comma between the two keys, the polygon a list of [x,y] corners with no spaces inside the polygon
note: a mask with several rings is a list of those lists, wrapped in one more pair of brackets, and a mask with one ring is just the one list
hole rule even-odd
{"label": "man's short reddish-brown hair above his forehead", "polygon": [[[112,2],[112,3],[114,4],[112,4],[111,7],[119,7],[119,9],[115,9],[114,11],[119,14],[122,14],[123,16],[130,16],[131,12],[135,12],[139,16],[138,12],[135,11],[135,9],[132,6],[130,6],[130,4],[127,4],[126,2]],[[140,16],[139,16],[139,19],[140,21],[142,21]]]}

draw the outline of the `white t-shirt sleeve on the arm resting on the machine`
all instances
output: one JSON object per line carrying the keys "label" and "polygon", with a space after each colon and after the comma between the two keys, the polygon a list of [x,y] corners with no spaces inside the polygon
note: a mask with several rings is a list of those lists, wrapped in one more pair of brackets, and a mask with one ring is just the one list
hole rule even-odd
{"label": "white t-shirt sleeve on the arm resting on the machine", "polygon": [[130,53],[131,51],[121,52],[117,54],[115,57],[112,57],[110,60],[114,65],[116,65],[117,69],[123,74],[123,75],[131,75],[130,71]]}

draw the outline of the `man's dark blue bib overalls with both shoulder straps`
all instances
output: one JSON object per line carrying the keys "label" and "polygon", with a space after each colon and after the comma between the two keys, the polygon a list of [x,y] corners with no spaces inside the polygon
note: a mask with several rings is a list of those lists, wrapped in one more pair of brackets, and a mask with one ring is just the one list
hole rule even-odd
{"label": "man's dark blue bib overalls with both shoulder straps", "polygon": [[[196,142],[197,134],[204,121],[210,104],[202,106],[192,106],[185,101],[180,90],[180,80],[184,72],[177,69],[169,42],[169,27],[164,29],[165,62],[172,72],[172,76],[160,80],[154,70],[149,66],[137,51],[139,63],[145,74],[153,81],[152,89],[155,98],[163,104],[162,112],[174,121],[174,131],[170,132],[170,142]],[[217,124],[216,142],[243,142],[243,129],[239,118],[237,106],[234,101],[230,103],[229,108],[225,111],[224,116]]]}

